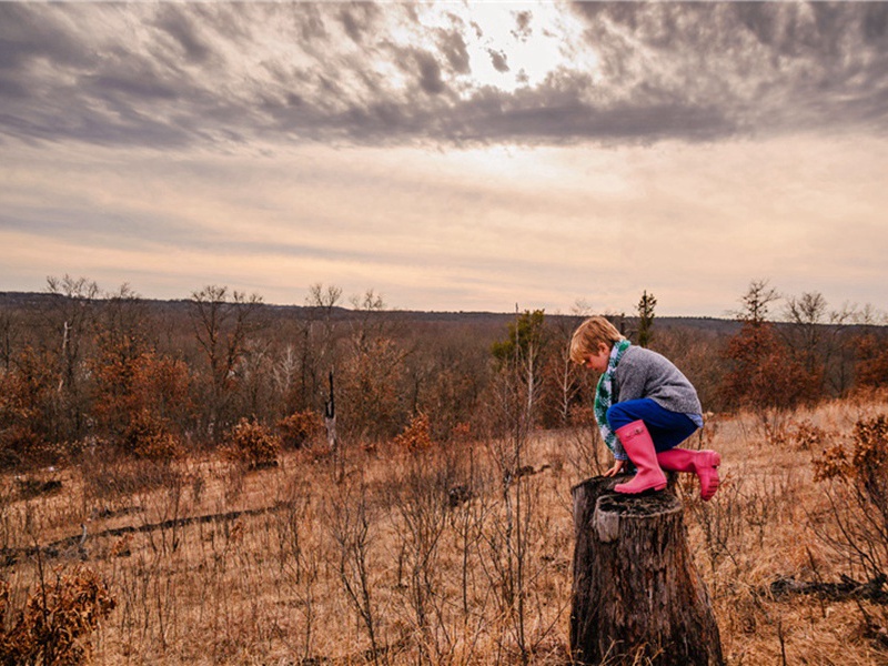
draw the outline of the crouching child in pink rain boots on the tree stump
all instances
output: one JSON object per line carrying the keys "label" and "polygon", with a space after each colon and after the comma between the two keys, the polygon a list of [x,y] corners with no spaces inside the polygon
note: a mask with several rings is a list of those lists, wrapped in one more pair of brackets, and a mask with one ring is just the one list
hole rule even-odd
{"label": "crouching child in pink rain boots on the tree stump", "polygon": [[595,418],[615,463],[614,476],[630,460],[637,473],[618,493],[638,494],[666,487],[663,470],[694,472],[700,496],[718,490],[722,456],[715,451],[676,448],[703,427],[700,401],[687,377],[665,356],[633,346],[603,316],[583,322],[571,341],[571,360],[602,373],[595,394]]}

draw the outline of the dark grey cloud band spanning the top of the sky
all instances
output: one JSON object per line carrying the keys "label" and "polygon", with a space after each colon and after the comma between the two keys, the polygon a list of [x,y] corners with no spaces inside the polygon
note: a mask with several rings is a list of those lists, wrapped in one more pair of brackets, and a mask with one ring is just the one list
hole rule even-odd
{"label": "dark grey cloud band spanning the top of the sky", "polygon": [[[579,2],[596,72],[472,85],[452,17],[395,46],[371,3],[0,3],[0,141],[650,142],[888,130],[884,2]],[[127,21],[122,21],[125,17]],[[516,38],[533,34],[515,13]],[[93,30],[95,26],[121,30]],[[140,26],[139,39],[122,29]],[[274,26],[294,58],[261,51]],[[490,49],[507,72],[507,47]],[[404,72],[405,83],[390,75]]]}

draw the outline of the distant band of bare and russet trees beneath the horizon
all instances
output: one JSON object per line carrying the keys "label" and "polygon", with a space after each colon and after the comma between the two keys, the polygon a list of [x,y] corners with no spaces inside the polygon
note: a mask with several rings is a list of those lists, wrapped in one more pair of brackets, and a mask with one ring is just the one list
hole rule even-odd
{"label": "distant band of bare and russet trees beneath the horizon", "polygon": [[[833,311],[819,293],[754,281],[734,319],[658,317],[639,295],[607,316],[669,357],[706,411],[770,418],[888,387],[888,329],[869,306]],[[496,436],[515,405],[534,427],[592,423],[597,377],[567,347],[593,313],[404,312],[373,291],[347,305],[322,284],[304,306],[215,285],[153,301],[70,276],[0,293],[0,465],[87,447],[163,458],[244,424],[299,447],[325,445],[333,423],[340,444],[372,444],[417,416],[435,441]]]}

